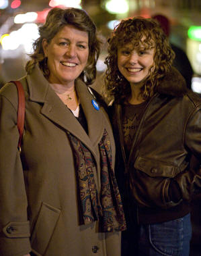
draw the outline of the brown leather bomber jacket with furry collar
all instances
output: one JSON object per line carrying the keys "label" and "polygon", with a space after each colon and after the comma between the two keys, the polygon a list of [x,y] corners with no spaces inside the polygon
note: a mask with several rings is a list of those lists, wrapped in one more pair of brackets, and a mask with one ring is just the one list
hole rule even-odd
{"label": "brown leather bomber jacket with furry collar", "polygon": [[147,222],[157,222],[161,215],[161,221],[165,221],[186,214],[189,209],[184,205],[193,193],[201,192],[200,162],[197,168],[190,168],[192,155],[201,159],[201,98],[187,91],[182,76],[171,70],[147,103],[127,160],[122,105],[114,103],[111,113],[117,146],[116,176],[124,197],[126,184],[138,209],[147,212]]}

